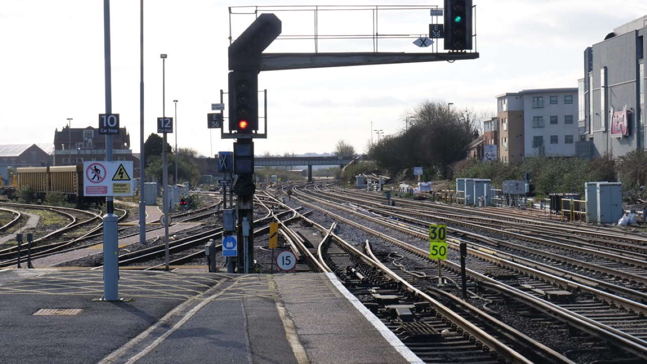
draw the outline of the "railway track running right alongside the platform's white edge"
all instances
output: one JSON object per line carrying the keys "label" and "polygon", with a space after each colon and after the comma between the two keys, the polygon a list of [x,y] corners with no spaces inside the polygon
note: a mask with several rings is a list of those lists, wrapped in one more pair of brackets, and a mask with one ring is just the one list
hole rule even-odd
{"label": "railway track running right alongside the platform's white edge", "polygon": [[[314,272],[333,272],[373,314],[426,363],[569,363],[573,361],[501,323],[492,316],[448,294],[431,294],[410,284],[411,275],[387,267],[333,233],[307,220],[323,234],[318,246],[302,247],[308,261],[318,261]],[[369,246],[367,246],[369,249]],[[302,259],[304,259],[302,257]],[[462,312],[438,299],[463,307]],[[434,297],[436,296],[436,297]],[[477,323],[476,323],[477,322]],[[483,327],[496,327],[499,337]],[[501,341],[501,339],[505,341]],[[520,354],[511,347],[526,352]]]}

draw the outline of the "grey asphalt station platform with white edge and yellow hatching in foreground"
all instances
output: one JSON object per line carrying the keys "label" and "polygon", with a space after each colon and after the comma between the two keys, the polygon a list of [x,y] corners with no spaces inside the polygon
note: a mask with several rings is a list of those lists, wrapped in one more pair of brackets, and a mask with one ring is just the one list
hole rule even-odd
{"label": "grey asphalt station platform with white edge and yellow hatching in foreground", "polygon": [[0,270],[0,363],[421,364],[331,273]]}

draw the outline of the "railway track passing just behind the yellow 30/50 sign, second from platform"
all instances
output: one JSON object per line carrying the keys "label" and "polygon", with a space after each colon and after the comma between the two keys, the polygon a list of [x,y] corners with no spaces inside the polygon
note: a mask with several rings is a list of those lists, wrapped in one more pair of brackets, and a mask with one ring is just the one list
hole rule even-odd
{"label": "railway track passing just behind the yellow 30/50 sign, second from platform", "polygon": [[[316,200],[318,204],[334,205],[331,202],[312,197],[300,191],[295,191],[295,194],[299,197]],[[301,202],[307,204],[307,206],[322,209],[303,200]],[[357,217],[366,219],[366,215],[357,213],[353,209],[345,208],[344,206],[336,206],[335,208],[344,209],[345,213],[354,213]],[[327,213],[334,215],[330,211]],[[415,242],[408,244],[400,239],[394,239],[378,231],[366,228],[362,224],[339,216],[336,216],[335,219],[341,219],[345,224],[353,224],[355,228],[371,231],[371,233],[379,236],[380,239],[389,241],[400,248],[408,250],[408,252],[418,255],[424,259],[424,263],[427,266],[433,264],[428,260],[428,251],[423,250],[419,246],[415,246]],[[426,238],[426,231],[423,232],[422,229],[416,231],[409,227],[404,228],[393,222],[384,222],[383,220],[379,220],[378,222],[378,219],[375,219],[373,222],[380,223],[382,226],[388,226],[389,229],[404,231],[420,239],[418,245],[424,244],[424,240],[422,239]],[[457,248],[457,244],[450,242],[450,247],[455,249]],[[452,252],[455,252],[454,249],[452,249]],[[512,297],[515,301],[523,303],[527,308],[529,307],[532,310],[543,312],[543,314],[551,316],[553,319],[569,325],[569,327],[576,328],[587,334],[593,334],[603,342],[613,342],[614,345],[622,347],[626,352],[642,358],[641,360],[647,358],[647,347],[644,342],[644,327],[646,323],[644,322],[644,316],[642,316],[644,315],[645,306],[641,303],[607,294],[606,292],[600,292],[585,284],[575,284],[556,275],[543,273],[534,270],[534,268],[516,264],[476,249],[470,249],[468,252],[468,256],[470,257],[468,264],[470,264],[470,268],[472,266],[475,267],[474,269],[468,270],[468,275],[470,275],[470,279],[478,282],[479,285],[486,286],[490,289],[497,287],[502,292],[501,294]],[[454,254],[452,253],[452,258],[456,259],[456,255]],[[452,266],[452,269],[455,268],[455,264],[448,264],[449,266]],[[496,272],[498,273],[495,274]],[[499,279],[494,279],[493,276],[499,277]],[[506,282],[511,277],[514,277],[516,281]],[[566,302],[551,302],[551,299],[560,297],[560,294],[564,295],[564,297],[561,297],[562,299],[567,298],[565,300]],[[571,299],[575,299],[575,301],[569,303]],[[609,303],[613,303],[613,305]],[[620,305],[618,305],[619,303]],[[634,330],[634,328],[638,329]]]}

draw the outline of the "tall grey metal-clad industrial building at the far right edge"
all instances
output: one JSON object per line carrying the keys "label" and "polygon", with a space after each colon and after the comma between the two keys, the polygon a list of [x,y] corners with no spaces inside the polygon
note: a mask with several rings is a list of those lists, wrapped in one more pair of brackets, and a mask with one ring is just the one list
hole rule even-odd
{"label": "tall grey metal-clad industrial building at the far right edge", "polygon": [[613,29],[584,50],[578,82],[578,156],[620,158],[645,147],[647,16]]}

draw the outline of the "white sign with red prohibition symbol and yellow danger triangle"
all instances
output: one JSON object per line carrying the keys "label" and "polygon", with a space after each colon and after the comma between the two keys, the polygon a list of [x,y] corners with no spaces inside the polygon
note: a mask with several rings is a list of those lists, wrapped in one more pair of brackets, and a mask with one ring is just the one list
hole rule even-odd
{"label": "white sign with red prohibition symbol and yellow danger triangle", "polygon": [[83,196],[132,196],[132,175],[129,160],[83,162]]}

